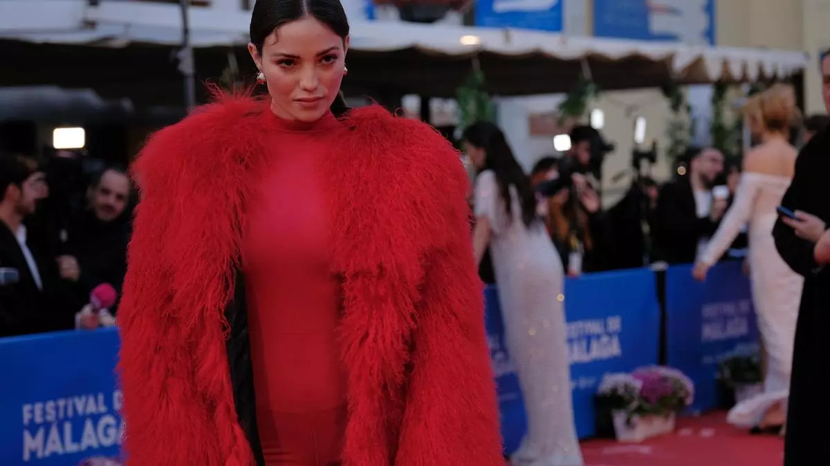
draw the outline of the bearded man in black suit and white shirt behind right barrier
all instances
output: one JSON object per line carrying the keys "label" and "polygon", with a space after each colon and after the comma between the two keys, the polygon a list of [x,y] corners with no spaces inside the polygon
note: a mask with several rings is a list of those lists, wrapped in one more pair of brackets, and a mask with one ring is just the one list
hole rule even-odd
{"label": "bearded man in black suit and white shirt behind right barrier", "polygon": [[686,176],[666,183],[657,197],[655,238],[662,260],[691,264],[715,233],[726,211],[725,199],[714,199],[712,187],[724,170],[724,156],[715,148],[690,149]]}

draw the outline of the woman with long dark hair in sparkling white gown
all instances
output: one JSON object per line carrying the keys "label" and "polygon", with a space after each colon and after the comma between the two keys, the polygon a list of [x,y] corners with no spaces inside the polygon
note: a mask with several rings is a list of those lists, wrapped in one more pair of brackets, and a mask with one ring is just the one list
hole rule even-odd
{"label": "woman with long dark hair in sparkling white gown", "polygon": [[476,260],[490,245],[507,350],[527,412],[527,434],[511,461],[515,466],[582,466],[571,400],[562,261],[536,216],[530,179],[500,129],[473,124],[464,132],[464,142],[478,170]]}

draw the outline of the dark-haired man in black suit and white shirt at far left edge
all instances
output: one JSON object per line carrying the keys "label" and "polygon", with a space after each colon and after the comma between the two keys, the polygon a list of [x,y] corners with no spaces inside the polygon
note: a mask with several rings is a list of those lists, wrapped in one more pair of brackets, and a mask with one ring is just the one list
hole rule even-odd
{"label": "dark-haired man in black suit and white shirt at far left edge", "polygon": [[0,337],[71,328],[61,312],[57,265],[38,254],[23,220],[32,215],[46,182],[29,159],[0,155],[0,267],[16,269],[14,284],[0,284]]}

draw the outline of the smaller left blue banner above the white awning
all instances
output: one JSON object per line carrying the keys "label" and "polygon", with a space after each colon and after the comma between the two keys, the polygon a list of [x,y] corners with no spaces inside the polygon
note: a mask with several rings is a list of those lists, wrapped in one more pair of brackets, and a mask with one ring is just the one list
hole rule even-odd
{"label": "smaller left blue banner above the white awning", "polygon": [[476,0],[476,26],[561,32],[564,0]]}

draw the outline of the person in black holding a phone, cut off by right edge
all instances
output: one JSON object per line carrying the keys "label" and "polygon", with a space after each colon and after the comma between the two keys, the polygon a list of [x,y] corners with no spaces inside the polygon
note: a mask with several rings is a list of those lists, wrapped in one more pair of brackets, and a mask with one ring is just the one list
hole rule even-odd
{"label": "person in black holding a phone, cut off by right edge", "polygon": [[[820,56],[824,106],[830,112],[830,50]],[[812,466],[830,456],[830,128],[798,153],[795,175],[781,205],[798,220],[779,216],[773,229],[779,255],[804,277],[793,348],[784,466]],[[818,463],[817,463],[818,462]]]}

